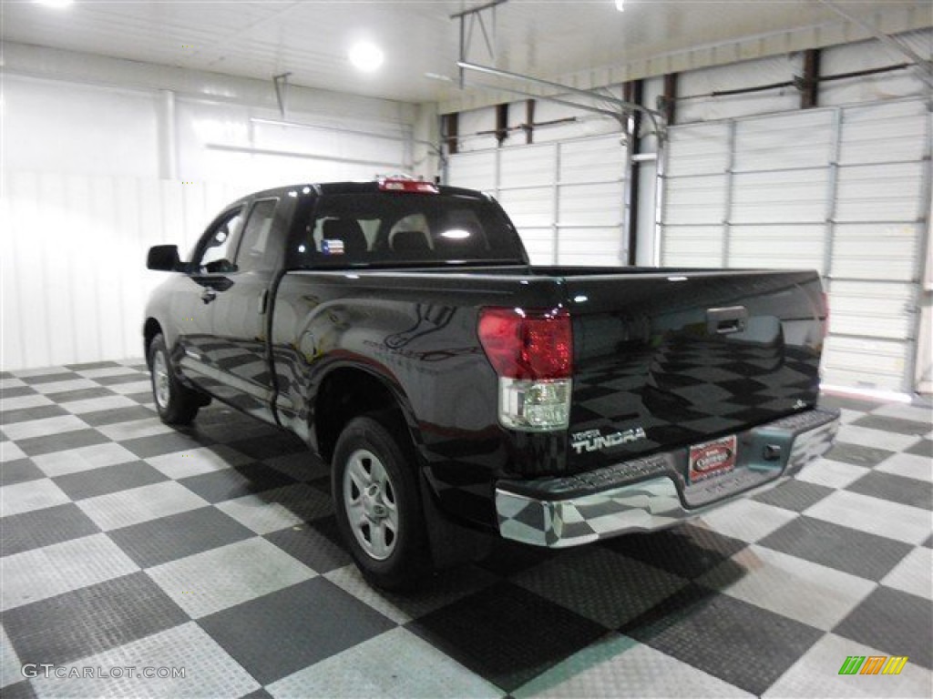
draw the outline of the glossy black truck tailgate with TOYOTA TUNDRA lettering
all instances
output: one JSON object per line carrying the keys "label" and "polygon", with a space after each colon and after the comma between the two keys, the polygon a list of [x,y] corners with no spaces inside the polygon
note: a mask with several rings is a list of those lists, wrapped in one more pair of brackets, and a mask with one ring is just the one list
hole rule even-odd
{"label": "glossy black truck tailgate with TOYOTA TUNDRA lettering", "polygon": [[815,272],[561,271],[549,273],[573,318],[569,472],[680,447],[715,470],[731,435],[815,405],[827,322]]}

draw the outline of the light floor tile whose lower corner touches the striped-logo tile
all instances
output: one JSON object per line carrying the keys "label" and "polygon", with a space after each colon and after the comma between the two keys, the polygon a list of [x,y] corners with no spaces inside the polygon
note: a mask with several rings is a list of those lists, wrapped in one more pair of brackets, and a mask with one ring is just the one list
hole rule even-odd
{"label": "light floor tile whose lower corner touches the striped-logo tile", "polygon": [[839,624],[875,588],[870,580],[754,544],[700,582],[824,631]]}

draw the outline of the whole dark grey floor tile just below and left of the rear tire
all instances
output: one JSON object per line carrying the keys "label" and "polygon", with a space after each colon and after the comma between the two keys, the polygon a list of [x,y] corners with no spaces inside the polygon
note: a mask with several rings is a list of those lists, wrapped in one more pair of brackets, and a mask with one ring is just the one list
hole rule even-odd
{"label": "whole dark grey floor tile just below and left of the rear tire", "polygon": [[396,626],[322,577],[218,611],[198,624],[264,685]]}

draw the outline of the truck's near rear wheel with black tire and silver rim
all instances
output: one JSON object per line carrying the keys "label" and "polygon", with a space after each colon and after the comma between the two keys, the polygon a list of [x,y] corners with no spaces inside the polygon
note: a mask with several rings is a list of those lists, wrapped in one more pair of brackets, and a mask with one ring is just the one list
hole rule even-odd
{"label": "truck's near rear wheel with black tire and silver rim", "polygon": [[337,524],[356,567],[369,583],[411,590],[430,572],[425,518],[413,450],[391,416],[351,420],[331,466]]}

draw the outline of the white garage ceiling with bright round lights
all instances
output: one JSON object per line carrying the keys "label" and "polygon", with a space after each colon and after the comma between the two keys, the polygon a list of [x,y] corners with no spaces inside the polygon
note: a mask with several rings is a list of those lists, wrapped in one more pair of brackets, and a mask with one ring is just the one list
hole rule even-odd
{"label": "white garage ceiling with bright round lights", "polygon": [[[0,13],[5,41],[261,79],[291,72],[307,87],[456,103],[454,83],[425,74],[456,75],[459,24],[450,16],[487,1],[76,0],[56,9],[0,0]],[[887,32],[933,26],[931,0],[839,5]],[[494,26],[491,11],[483,17],[495,56],[476,24],[470,61],[581,87],[868,35],[819,0],[628,0],[624,12],[612,0],[509,0]],[[383,48],[375,74],[347,59],[359,39]]]}

